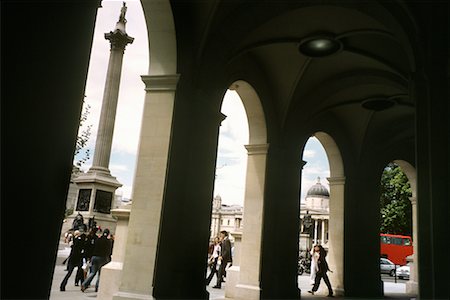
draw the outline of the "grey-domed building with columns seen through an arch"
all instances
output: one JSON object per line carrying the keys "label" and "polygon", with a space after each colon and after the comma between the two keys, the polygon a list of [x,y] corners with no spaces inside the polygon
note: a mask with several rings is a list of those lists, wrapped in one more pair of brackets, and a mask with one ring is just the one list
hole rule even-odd
{"label": "grey-domed building with columns seen through an arch", "polygon": [[[320,177],[318,177],[317,183],[306,193],[305,201],[300,203],[300,218],[302,220],[300,225],[300,232],[302,233],[300,250],[309,250],[311,245],[314,244],[320,244],[324,248],[328,248],[329,205],[330,193],[320,183]],[[308,221],[305,222],[305,220]]]}

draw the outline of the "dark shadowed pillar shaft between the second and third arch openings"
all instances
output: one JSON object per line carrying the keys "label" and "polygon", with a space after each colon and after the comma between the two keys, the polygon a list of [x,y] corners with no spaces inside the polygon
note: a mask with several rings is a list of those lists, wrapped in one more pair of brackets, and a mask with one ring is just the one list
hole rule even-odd
{"label": "dark shadowed pillar shaft between the second and third arch openings", "polygon": [[266,170],[261,298],[299,299],[300,149],[271,144]]}

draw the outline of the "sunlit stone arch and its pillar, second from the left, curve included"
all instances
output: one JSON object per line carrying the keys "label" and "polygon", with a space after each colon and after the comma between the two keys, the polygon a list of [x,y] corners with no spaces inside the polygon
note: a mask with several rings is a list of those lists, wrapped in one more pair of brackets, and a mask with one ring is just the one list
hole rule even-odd
{"label": "sunlit stone arch and its pillar, second from the left, curve included", "polygon": [[244,104],[249,126],[247,173],[244,197],[244,228],[239,256],[229,270],[225,296],[259,299],[264,186],[267,159],[267,128],[261,101],[253,87],[239,80],[231,84]]}

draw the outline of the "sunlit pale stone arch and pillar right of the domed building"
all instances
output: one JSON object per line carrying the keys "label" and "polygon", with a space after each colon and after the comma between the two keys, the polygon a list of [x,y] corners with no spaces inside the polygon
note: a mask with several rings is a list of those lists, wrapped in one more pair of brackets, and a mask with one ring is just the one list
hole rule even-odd
{"label": "sunlit pale stone arch and pillar right of the domed building", "polygon": [[344,164],[334,139],[325,132],[316,132],[330,164],[330,215],[328,261],[333,273],[329,277],[336,295],[344,295]]}

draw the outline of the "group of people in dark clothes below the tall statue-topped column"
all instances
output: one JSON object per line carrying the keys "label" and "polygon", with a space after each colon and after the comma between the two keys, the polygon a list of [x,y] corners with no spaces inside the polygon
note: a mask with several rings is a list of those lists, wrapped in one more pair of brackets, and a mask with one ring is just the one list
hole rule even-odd
{"label": "group of people in dark clothes below the tall statue-topped column", "polygon": [[[74,222],[75,223],[75,222]],[[112,249],[114,245],[114,236],[110,234],[109,229],[99,230],[95,224],[86,234],[84,228],[78,221],[77,225],[72,227],[73,236],[66,235],[66,242],[71,246],[69,257],[67,258],[67,274],[60,284],[60,291],[66,290],[67,282],[75,268],[75,286],[81,286],[84,292],[89,288],[95,275],[97,282],[95,291],[98,291],[100,282],[100,271],[104,265],[111,261]]]}

